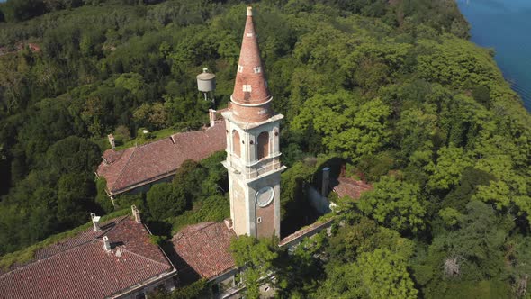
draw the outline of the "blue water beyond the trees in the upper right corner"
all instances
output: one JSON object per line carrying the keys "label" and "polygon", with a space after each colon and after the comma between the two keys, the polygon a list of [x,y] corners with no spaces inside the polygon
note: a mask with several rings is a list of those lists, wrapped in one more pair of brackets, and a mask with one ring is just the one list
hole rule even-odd
{"label": "blue water beyond the trees in the upper right corner", "polygon": [[531,111],[531,0],[458,0],[472,41],[496,50],[496,62]]}

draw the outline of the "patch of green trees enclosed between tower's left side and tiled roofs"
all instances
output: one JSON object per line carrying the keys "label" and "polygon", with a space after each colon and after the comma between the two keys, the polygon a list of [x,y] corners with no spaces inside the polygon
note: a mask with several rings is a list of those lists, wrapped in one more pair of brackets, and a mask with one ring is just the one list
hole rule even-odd
{"label": "patch of green trees enclosed between tower's left side and tiled roofs", "polygon": [[135,204],[156,235],[171,238],[189,224],[222,222],[230,217],[228,175],[221,161],[225,152],[202,161],[184,161],[169,183],[158,183],[147,193],[116,196],[116,208]]}

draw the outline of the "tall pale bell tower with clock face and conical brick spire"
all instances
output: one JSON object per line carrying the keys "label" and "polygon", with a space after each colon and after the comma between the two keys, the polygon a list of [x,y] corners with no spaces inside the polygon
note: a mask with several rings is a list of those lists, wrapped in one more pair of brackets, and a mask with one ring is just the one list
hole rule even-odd
{"label": "tall pale bell tower with clock face and conical brick spire", "polygon": [[222,113],[227,128],[230,218],[236,234],[280,237],[279,127],[284,115],[273,113],[260,59],[252,7],[239,53],[229,110]]}

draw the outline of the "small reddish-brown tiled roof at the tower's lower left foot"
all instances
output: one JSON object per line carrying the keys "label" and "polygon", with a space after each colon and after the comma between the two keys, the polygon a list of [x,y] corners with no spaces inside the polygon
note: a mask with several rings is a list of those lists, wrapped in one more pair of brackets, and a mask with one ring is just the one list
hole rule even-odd
{"label": "small reddish-brown tiled roof at the tower's lower left foot", "polygon": [[[203,278],[214,278],[235,267],[230,240],[236,237],[224,223],[202,222],[175,234],[175,252]],[[179,269],[181,271],[181,269]]]}

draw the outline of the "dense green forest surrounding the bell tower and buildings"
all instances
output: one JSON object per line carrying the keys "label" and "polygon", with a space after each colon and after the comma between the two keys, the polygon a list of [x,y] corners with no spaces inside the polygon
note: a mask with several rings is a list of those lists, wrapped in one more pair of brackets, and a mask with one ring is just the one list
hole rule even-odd
{"label": "dense green forest surrounding the bell tower and buildings", "polygon": [[[247,281],[275,269],[278,296],[293,298],[529,297],[531,116],[493,50],[467,41],[454,0],[253,5],[275,111],[286,116],[284,218],[301,216],[305,186],[338,160],[374,189],[337,199],[331,234],[292,255],[238,239]],[[214,107],[227,105],[245,6],[0,4],[0,266],[90,212],[131,203],[159,241],[227,217],[223,153],[116,207],[94,169],[109,133],[127,144],[157,137],[144,128],[200,128],[211,107],[195,87],[202,68],[217,75]]]}

